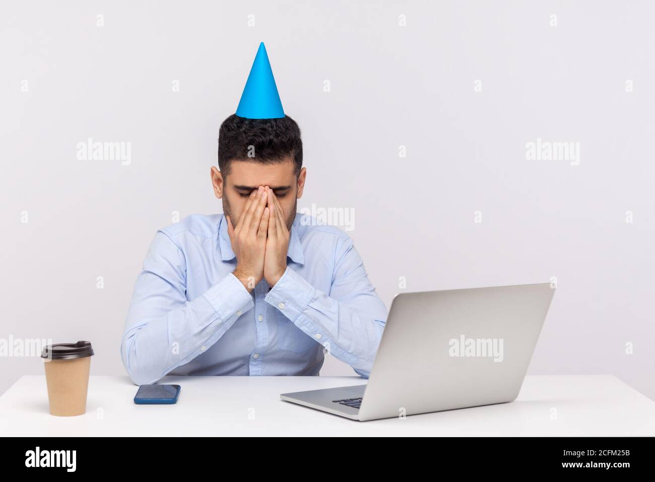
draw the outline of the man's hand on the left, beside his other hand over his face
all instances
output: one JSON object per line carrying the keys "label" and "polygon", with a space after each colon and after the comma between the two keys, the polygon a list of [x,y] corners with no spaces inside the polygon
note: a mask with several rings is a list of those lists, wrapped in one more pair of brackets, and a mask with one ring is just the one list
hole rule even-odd
{"label": "man's hand on the left, beside his other hand over his face", "polygon": [[236,228],[230,217],[225,216],[232,251],[236,255],[236,269],[233,274],[248,291],[252,291],[264,277],[264,253],[270,216],[266,205],[267,190],[268,188],[259,186],[259,189],[250,193]]}

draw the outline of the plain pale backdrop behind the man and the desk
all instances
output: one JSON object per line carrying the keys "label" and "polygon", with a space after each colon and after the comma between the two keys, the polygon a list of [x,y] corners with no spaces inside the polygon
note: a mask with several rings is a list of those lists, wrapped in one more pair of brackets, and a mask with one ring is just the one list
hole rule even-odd
{"label": "plain pale backdrop behind the man and the desk", "polygon": [[[143,256],[172,212],[221,211],[218,127],[264,41],[303,131],[299,208],[353,210],[349,234],[387,307],[400,277],[407,291],[557,277],[529,372],[616,374],[655,398],[654,12],[647,1],[4,2],[0,338],[90,340],[92,374],[125,374]],[[87,138],[131,142],[130,165],[78,160]],[[528,161],[536,138],[580,142],[580,165]],[[35,358],[0,364],[0,393],[43,373]],[[321,374],[354,372],[327,359]]]}

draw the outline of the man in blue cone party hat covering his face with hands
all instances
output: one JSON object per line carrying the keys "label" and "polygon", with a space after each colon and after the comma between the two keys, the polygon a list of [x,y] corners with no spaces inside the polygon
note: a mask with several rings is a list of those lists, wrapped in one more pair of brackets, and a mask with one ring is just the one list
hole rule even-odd
{"label": "man in blue cone party hat covering his face with hands", "polygon": [[223,212],[157,231],[121,343],[134,383],[166,374],[318,375],[324,352],[368,377],[386,308],[343,231],[296,212],[307,171],[263,43],[221,124]]}

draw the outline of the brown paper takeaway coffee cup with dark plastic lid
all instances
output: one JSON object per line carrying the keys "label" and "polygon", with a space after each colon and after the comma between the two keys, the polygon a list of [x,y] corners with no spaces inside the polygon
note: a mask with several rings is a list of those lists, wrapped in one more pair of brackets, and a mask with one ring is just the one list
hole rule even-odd
{"label": "brown paper takeaway coffee cup with dark plastic lid", "polygon": [[73,416],[86,412],[92,355],[90,342],[58,343],[43,348],[41,358],[44,359],[50,414]]}

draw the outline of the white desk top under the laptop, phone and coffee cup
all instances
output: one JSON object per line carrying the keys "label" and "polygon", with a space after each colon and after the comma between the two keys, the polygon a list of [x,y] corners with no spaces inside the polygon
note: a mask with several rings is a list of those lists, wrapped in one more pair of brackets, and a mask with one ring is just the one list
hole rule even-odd
{"label": "white desk top under the laptop, phone and coffee cup", "polygon": [[[655,402],[610,375],[527,376],[516,401],[356,422],[280,393],[356,385],[358,377],[169,376],[176,405],[136,405],[127,376],[91,376],[86,414],[48,412],[45,376],[0,397],[0,435],[655,435]],[[552,409],[557,418],[552,417]]]}

